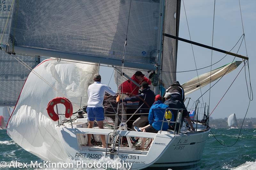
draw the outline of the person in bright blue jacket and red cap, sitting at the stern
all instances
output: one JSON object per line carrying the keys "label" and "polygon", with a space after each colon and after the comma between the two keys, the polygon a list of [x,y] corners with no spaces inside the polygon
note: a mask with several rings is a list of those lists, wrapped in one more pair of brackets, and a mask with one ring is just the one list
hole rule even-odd
{"label": "person in bright blue jacket and red cap, sitting at the stern", "polygon": [[[140,130],[143,130],[143,132],[150,132],[150,133],[158,133],[159,130],[161,130],[162,127],[162,121],[166,121],[164,118],[165,116],[165,110],[169,108],[167,105],[163,104],[161,95],[156,95],[155,103],[153,106],[151,106],[149,110],[148,115],[148,121],[149,125],[141,128]],[[171,121],[174,120],[174,117],[172,116]],[[169,128],[168,123],[164,122],[162,130],[167,130]],[[142,138],[141,146],[137,147],[137,150],[144,150],[144,145],[147,138]]]}

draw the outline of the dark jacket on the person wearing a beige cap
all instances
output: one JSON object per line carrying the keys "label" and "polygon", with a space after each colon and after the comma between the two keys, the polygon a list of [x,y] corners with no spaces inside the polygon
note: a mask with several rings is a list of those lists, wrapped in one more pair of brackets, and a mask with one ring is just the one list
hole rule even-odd
{"label": "dark jacket on the person wearing a beige cap", "polygon": [[[182,120],[188,116],[188,110],[179,94],[172,94],[171,98],[166,100],[164,104],[168,105],[170,108],[185,109],[182,113]],[[172,113],[174,115],[174,121],[176,121],[178,110],[172,110]]]}

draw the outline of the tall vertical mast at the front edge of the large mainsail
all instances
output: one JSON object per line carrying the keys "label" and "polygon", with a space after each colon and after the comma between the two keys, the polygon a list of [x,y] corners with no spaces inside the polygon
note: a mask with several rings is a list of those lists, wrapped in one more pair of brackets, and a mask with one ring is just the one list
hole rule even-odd
{"label": "tall vertical mast at the front edge of the large mainsail", "polygon": [[159,53],[158,53],[158,61],[157,61],[157,72],[156,75],[154,76],[154,81],[157,80],[157,85],[155,88],[155,94],[159,94],[159,78],[161,74],[161,62],[162,62],[162,49],[163,49],[163,29],[164,29],[164,11],[165,11],[165,0],[162,1],[162,13],[161,15],[161,28],[160,28],[160,41],[159,41]]}

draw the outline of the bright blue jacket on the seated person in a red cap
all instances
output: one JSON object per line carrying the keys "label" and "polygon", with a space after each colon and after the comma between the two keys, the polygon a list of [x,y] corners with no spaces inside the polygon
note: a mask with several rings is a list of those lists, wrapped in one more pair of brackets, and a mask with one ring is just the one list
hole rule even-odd
{"label": "bright blue jacket on the seated person in a red cap", "polygon": [[[150,125],[153,126],[154,129],[161,130],[163,119],[164,121],[166,121],[166,119],[164,118],[166,108],[169,108],[169,107],[163,104],[161,100],[157,100],[154,103],[154,105],[151,106],[149,110],[149,115],[148,115],[148,122]],[[174,117],[172,116],[171,121],[173,120],[174,120]],[[167,130],[168,128],[169,128],[168,123],[164,122],[162,130]]]}

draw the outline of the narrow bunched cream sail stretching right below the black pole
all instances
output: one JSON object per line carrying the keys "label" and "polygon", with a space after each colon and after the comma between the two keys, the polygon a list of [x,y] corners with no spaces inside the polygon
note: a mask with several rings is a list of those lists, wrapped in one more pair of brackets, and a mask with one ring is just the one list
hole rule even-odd
{"label": "narrow bunched cream sail stretching right below the black pole", "polygon": [[201,74],[198,77],[192,78],[188,82],[181,85],[184,89],[185,95],[188,95],[189,93],[192,93],[200,88],[198,79],[200,82],[200,86],[204,87],[205,85],[208,85],[210,81],[213,82],[221,78],[222,76],[227,75],[229,72],[235,70],[241,63],[241,61],[235,61],[233,63],[224,65],[218,69]]}

